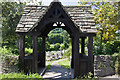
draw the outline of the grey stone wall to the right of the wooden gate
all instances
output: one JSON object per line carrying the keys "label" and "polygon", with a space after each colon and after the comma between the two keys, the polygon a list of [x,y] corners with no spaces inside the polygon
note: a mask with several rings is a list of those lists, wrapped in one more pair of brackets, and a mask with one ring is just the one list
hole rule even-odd
{"label": "grey stone wall to the right of the wooden gate", "polygon": [[109,55],[94,56],[94,75],[103,77],[115,74],[114,68],[111,67],[113,61]]}

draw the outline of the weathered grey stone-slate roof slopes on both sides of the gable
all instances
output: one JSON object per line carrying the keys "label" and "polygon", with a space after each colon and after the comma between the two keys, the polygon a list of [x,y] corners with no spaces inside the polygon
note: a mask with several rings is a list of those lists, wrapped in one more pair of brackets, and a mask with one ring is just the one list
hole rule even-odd
{"label": "weathered grey stone-slate roof slopes on both sides of the gable", "polygon": [[[26,6],[17,25],[16,32],[28,32],[33,27],[36,27],[48,8],[49,6]],[[91,6],[63,6],[63,9],[83,33],[97,32],[94,16],[91,13]]]}

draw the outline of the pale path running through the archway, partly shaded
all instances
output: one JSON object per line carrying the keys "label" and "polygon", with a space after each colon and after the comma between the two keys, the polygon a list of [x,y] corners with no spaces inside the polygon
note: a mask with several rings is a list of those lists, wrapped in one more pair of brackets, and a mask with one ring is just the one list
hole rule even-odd
{"label": "pale path running through the archway, partly shaded", "polygon": [[50,79],[71,78],[71,71],[58,64],[58,62],[62,60],[66,60],[66,59],[54,61],[51,64],[50,69],[47,69],[47,71],[43,75],[43,78],[50,78]]}

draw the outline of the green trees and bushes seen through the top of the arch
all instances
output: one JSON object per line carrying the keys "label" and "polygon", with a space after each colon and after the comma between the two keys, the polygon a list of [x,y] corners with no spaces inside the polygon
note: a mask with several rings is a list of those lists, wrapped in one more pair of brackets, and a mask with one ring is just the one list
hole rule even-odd
{"label": "green trees and bushes seen through the top of the arch", "polygon": [[[47,38],[48,43],[50,43],[50,51],[59,50],[56,49],[57,43],[63,43],[62,49],[67,49],[69,47],[70,37],[67,31],[62,28],[55,28],[49,34]],[[55,44],[54,46],[52,44]]]}

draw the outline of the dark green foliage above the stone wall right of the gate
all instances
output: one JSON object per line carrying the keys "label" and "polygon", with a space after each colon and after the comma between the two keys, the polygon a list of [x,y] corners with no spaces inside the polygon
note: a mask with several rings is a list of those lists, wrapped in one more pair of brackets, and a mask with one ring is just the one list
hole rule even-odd
{"label": "dark green foliage above the stone wall right of the gate", "polygon": [[111,55],[114,54],[115,52],[119,52],[118,47],[120,46],[120,40],[114,40],[114,41],[107,41],[106,43],[101,42],[94,42],[93,44],[93,53],[95,55]]}

